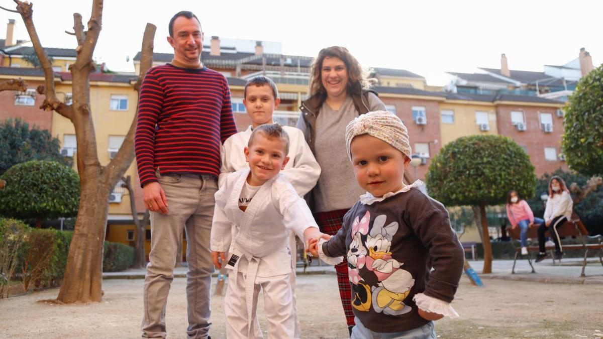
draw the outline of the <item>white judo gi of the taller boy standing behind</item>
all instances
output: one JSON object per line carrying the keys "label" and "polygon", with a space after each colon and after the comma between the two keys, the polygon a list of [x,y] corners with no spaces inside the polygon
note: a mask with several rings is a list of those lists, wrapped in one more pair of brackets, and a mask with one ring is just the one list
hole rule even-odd
{"label": "white judo gi of the taller boy standing behind", "polygon": [[[318,182],[320,166],[318,165],[314,154],[312,154],[303,132],[299,128],[283,126],[283,130],[285,130],[289,136],[289,153],[287,154],[289,162],[285,165],[285,169],[282,173],[285,174],[289,183],[293,185],[297,194],[299,194],[300,197],[303,197],[308,194]],[[223,185],[229,174],[249,168],[243,150],[249,142],[251,131],[251,126],[249,126],[247,130],[236,133],[224,141],[221,150],[222,166],[220,169],[218,186]],[[297,248],[295,246],[294,233],[291,233],[289,247],[291,249],[291,287],[293,289],[293,306],[294,309],[297,309],[295,306],[297,304],[295,298]],[[259,324],[256,326],[257,331],[259,331]],[[295,312],[295,338],[300,337],[300,332],[299,320],[297,318],[297,312]]]}

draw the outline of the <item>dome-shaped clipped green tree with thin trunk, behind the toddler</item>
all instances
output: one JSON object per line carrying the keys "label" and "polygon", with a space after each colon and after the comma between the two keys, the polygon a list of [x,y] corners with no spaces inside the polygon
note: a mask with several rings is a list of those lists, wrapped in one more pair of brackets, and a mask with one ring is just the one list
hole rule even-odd
{"label": "dome-shaped clipped green tree with thin trunk, behind the toddler", "polygon": [[[507,192],[532,197],[534,166],[513,139],[498,135],[464,136],[444,146],[426,174],[429,195],[448,206],[473,206],[481,224],[484,271],[492,271],[486,206],[505,203]],[[479,215],[478,215],[479,214]]]}

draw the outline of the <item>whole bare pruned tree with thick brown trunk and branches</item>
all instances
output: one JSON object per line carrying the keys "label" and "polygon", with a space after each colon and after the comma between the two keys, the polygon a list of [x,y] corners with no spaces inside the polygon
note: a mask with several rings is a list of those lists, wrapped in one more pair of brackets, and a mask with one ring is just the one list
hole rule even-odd
{"label": "whole bare pruned tree with thick brown trunk and branches", "polygon": [[[68,118],[74,125],[77,140],[77,168],[81,187],[80,209],[69,247],[65,277],[57,299],[65,303],[99,302],[102,297],[103,242],[107,228],[109,194],[134,159],[133,139],[136,130],[136,116],[134,116],[130,130],[116,156],[107,166],[102,166],[98,161],[96,135],[90,111],[89,75],[95,69],[92,55],[102,26],[103,0],[92,0],[92,13],[87,22],[86,31],[81,22],[81,15],[74,14],[74,33],[69,34],[76,37],[78,46],[75,49],[77,51],[75,63],[69,67],[73,78],[73,103],[71,105],[57,99],[52,63],[46,55],[34,26],[33,5],[30,2],[19,0],[14,0],[14,2],[17,4],[16,10],[9,11],[21,14],[44,72],[45,86],[37,88],[40,94],[45,95],[45,100],[40,108],[54,110]],[[136,90],[139,89],[142,77],[153,62],[155,30],[156,27],[151,24],[147,24],[145,28],[142,39],[140,74],[134,85]]]}

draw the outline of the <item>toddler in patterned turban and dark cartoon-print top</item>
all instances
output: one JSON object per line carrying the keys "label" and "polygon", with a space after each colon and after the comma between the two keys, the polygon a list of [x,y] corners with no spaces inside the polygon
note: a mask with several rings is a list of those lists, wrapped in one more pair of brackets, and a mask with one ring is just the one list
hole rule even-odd
{"label": "toddler in patterned turban and dark cartoon-print top", "polygon": [[346,142],[367,193],[341,230],[311,241],[309,252],[329,264],[346,255],[356,316],[352,338],[435,338],[433,320],[458,317],[450,302],[463,273],[463,247],[446,209],[417,189],[420,180],[403,183],[411,147],[396,115],[359,116],[347,126]]}

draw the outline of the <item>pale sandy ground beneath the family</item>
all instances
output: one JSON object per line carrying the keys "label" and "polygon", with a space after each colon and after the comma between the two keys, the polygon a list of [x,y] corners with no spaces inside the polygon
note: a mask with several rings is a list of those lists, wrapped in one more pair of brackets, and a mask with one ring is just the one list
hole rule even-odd
{"label": "pale sandy ground beneath the family", "polygon": [[[333,274],[300,275],[298,312],[304,338],[346,338]],[[603,285],[540,284],[487,279],[485,287],[463,277],[453,302],[458,320],[436,323],[441,338],[603,337]],[[58,290],[0,300],[2,338],[136,338],[142,316],[142,279],[104,280],[104,300],[55,305]],[[184,338],[184,278],[174,279],[168,300],[168,337]],[[212,299],[212,338],[224,338],[223,297]],[[261,309],[261,305],[259,309]],[[260,323],[265,329],[263,315]],[[267,335],[265,334],[265,337]]]}

